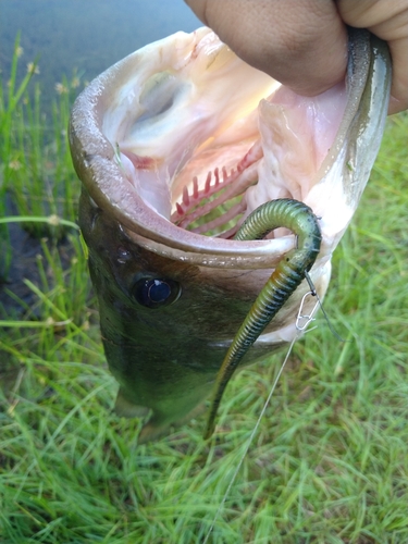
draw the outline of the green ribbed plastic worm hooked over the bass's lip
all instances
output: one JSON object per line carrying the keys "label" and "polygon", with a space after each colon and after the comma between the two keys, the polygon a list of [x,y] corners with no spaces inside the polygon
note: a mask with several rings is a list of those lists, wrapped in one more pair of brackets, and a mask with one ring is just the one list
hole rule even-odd
{"label": "green ribbed plastic worm hooked over the bass's lip", "polygon": [[297,247],[285,254],[280,261],[226,353],[217,374],[205,438],[209,438],[214,431],[222,395],[240,359],[305,280],[319,255],[322,235],[318,218],[304,202],[289,198],[271,200],[257,208],[243,223],[235,239],[261,239],[280,226],[296,234]]}

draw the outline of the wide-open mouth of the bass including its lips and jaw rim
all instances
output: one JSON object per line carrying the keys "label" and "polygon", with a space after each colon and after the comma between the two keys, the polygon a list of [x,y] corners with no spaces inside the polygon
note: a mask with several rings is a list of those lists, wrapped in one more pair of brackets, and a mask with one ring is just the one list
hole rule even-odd
{"label": "wide-open mouth of the bass including its lips and jaw rim", "polygon": [[292,198],[321,218],[330,259],[375,159],[390,86],[386,48],[350,33],[345,82],[313,98],[247,65],[209,28],[126,57],[73,108],[72,156],[91,202],[158,255],[255,270],[274,267],[293,237],[230,238],[260,205]]}

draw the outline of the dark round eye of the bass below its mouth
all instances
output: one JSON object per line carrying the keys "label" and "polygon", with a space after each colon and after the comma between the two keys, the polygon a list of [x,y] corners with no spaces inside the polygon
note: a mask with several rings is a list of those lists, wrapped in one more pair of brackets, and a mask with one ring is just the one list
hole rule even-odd
{"label": "dark round eye of the bass below its mouth", "polygon": [[134,284],[132,294],[140,306],[154,309],[175,302],[182,294],[182,288],[173,280],[143,277]]}

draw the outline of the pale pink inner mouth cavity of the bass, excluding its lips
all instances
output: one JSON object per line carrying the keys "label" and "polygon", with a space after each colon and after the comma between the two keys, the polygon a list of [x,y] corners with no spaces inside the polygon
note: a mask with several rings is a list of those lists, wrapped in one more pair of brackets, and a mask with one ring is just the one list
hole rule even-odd
{"label": "pale pink inner mouth cavity of the bass, excluding its lips", "polygon": [[182,228],[230,238],[261,203],[305,200],[346,101],[344,84],[295,95],[201,28],[129,76],[104,133],[150,208]]}

